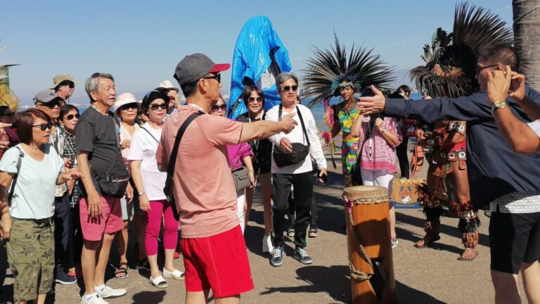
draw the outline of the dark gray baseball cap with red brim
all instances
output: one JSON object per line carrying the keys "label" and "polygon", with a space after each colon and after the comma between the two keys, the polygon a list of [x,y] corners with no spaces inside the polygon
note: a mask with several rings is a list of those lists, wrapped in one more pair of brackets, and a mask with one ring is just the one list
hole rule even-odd
{"label": "dark gray baseball cap with red brim", "polygon": [[174,79],[178,81],[178,84],[188,84],[195,80],[200,80],[204,75],[209,72],[217,73],[224,70],[229,70],[231,65],[229,63],[216,64],[208,56],[203,53],[194,53],[184,57],[174,70]]}

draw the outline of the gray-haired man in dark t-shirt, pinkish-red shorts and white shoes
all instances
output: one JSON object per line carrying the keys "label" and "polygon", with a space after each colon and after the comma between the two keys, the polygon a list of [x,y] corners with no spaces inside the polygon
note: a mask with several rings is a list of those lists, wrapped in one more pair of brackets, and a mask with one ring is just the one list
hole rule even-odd
{"label": "gray-haired man in dark t-shirt, pinkish-red shorts and white shoes", "polygon": [[109,110],[116,101],[113,76],[96,72],[86,80],[85,89],[91,106],[75,127],[77,163],[84,176],[79,202],[84,238],[82,303],[106,304],[103,298],[126,294],[125,289],[105,286],[105,268],[115,233],[123,227],[120,197],[129,174],[120,153],[120,123]]}

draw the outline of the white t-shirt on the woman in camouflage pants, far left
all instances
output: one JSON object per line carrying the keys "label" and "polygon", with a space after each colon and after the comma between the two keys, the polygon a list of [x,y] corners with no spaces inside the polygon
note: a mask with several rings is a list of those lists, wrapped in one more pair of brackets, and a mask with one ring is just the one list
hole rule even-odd
{"label": "white t-shirt on the woman in camouflage pants, far left", "polygon": [[[44,144],[43,160],[34,160],[23,148],[20,172],[11,199],[9,214],[18,219],[41,220],[54,215],[54,190],[64,161],[51,144]],[[19,149],[9,148],[0,160],[0,171],[17,172]],[[9,194],[9,190],[8,190]]]}

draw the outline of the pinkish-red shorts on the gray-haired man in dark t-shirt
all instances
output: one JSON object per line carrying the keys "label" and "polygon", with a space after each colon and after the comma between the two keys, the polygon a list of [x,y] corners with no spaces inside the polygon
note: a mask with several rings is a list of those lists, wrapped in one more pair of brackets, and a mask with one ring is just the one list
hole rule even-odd
{"label": "pinkish-red shorts on the gray-haired man in dark t-shirt", "polygon": [[113,234],[124,227],[120,198],[101,196],[101,215],[91,217],[88,214],[86,198],[79,201],[82,237],[86,241],[101,241],[103,234]]}

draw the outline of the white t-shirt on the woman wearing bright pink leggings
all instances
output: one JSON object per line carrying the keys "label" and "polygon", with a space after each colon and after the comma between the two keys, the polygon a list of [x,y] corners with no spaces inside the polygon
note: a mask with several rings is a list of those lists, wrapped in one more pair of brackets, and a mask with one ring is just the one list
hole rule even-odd
{"label": "white t-shirt on the woman wearing bright pink leggings", "polygon": [[144,191],[150,201],[159,201],[167,198],[163,193],[167,172],[160,172],[158,170],[158,162],[155,160],[155,151],[158,149],[160,138],[161,129],[154,129],[146,122],[133,134],[127,155],[128,160],[142,160],[141,176],[143,177]]}

